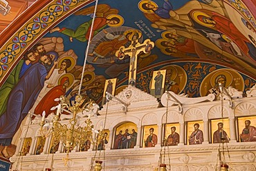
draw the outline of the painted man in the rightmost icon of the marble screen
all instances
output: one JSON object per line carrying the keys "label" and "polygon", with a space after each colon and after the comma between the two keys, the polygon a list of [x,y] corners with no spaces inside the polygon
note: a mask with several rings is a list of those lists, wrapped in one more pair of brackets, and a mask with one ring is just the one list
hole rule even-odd
{"label": "painted man in the rightmost icon of the marble screen", "polygon": [[241,142],[256,141],[256,128],[250,125],[250,120],[244,121],[246,128],[241,132]]}

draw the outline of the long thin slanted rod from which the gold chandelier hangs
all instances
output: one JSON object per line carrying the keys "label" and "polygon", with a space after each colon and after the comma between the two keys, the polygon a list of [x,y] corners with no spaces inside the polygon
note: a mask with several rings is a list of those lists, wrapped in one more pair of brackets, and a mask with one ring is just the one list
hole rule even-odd
{"label": "long thin slanted rod from which the gold chandelier hangs", "polygon": [[91,43],[91,35],[93,33],[93,25],[94,25],[94,20],[95,20],[95,17],[96,17],[97,6],[98,6],[98,0],[95,1],[95,8],[94,8],[94,12],[93,12],[93,21],[91,22],[90,36],[89,36],[89,39],[88,39],[86,53],[85,53],[85,57],[84,57],[84,66],[82,68],[82,76],[81,76],[81,80],[80,80],[80,86],[79,86],[79,90],[78,90],[78,95],[80,95],[80,93],[81,93],[82,79],[84,77],[84,70],[85,70],[85,66],[86,66],[86,60],[87,60],[87,56],[88,56],[88,52],[89,52],[89,46],[90,46],[90,43]]}

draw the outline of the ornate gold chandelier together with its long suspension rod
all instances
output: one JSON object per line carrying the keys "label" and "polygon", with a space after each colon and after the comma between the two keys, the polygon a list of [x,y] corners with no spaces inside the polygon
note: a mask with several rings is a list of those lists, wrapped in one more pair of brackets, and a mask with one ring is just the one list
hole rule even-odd
{"label": "ornate gold chandelier together with its long suspension rod", "polygon": [[[88,44],[86,48],[86,53],[84,57],[84,66],[82,69],[82,76],[80,79],[80,87],[78,90],[78,94],[75,97],[75,101],[72,101],[70,103],[69,99],[66,99],[66,97],[61,96],[60,98],[55,99],[55,101],[59,101],[59,104],[57,106],[54,106],[51,110],[56,110],[53,117],[53,125],[51,128],[45,127],[46,121],[45,121],[45,113],[42,114],[42,121],[39,123],[41,125],[41,133],[42,135],[52,135],[53,139],[53,147],[55,147],[58,143],[62,142],[62,145],[64,146],[66,150],[66,159],[64,159],[65,165],[67,164],[68,159],[68,152],[71,152],[71,150],[74,150],[75,147],[79,147],[82,143],[86,141],[90,141],[93,147],[96,147],[96,151],[98,150],[98,145],[100,141],[102,141],[107,135],[104,134],[104,130],[102,130],[102,127],[100,127],[100,130],[95,130],[94,125],[91,121],[91,114],[90,111],[93,109],[93,105],[96,105],[93,101],[86,102],[84,97],[80,94],[82,89],[82,79],[84,77],[84,70],[86,66],[86,60],[89,52],[89,46],[91,43],[91,35],[93,30],[93,23],[95,20],[95,13],[98,6],[98,0],[95,1],[95,9],[93,13],[93,20],[91,23],[91,31],[90,31],[90,37],[88,39]],[[69,114],[73,114],[71,119],[68,121],[68,124],[62,124],[60,122],[60,114],[62,112],[68,112]],[[82,112],[82,114],[86,114],[88,112],[88,117],[84,121],[85,125],[80,125],[80,119],[77,117],[77,114]],[[46,129],[45,129],[46,128]],[[100,157],[99,157],[100,159]],[[95,171],[101,170],[101,164],[102,161],[97,160],[95,161]]]}

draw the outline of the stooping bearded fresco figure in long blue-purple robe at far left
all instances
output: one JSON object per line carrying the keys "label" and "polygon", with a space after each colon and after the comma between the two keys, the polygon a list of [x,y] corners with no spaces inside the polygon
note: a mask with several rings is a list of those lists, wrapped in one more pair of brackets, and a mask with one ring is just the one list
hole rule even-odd
{"label": "stooping bearded fresco figure in long blue-purple robe at far left", "polygon": [[2,152],[8,154],[7,147],[12,142],[12,137],[33,107],[35,99],[44,87],[44,81],[51,77],[57,61],[47,72],[45,65],[48,61],[46,55],[40,57],[39,63],[33,64],[10,92],[6,112],[0,117],[0,145],[5,146]]}

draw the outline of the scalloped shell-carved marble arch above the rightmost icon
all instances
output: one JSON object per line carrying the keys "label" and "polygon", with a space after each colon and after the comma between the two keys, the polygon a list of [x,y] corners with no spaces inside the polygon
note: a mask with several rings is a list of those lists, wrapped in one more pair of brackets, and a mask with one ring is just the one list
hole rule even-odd
{"label": "scalloped shell-carved marble arch above the rightmost icon", "polygon": [[235,117],[250,116],[256,114],[256,105],[251,102],[239,103],[234,110]]}

